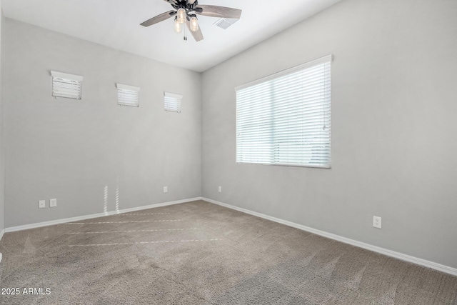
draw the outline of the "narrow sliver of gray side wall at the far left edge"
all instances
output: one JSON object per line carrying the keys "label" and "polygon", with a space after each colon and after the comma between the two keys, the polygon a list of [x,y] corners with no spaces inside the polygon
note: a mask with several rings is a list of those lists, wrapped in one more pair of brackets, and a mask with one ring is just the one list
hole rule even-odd
{"label": "narrow sliver of gray side wall at the far left edge", "polygon": [[5,163],[4,163],[4,101],[3,101],[3,30],[4,16],[0,0],[0,232],[5,228]]}

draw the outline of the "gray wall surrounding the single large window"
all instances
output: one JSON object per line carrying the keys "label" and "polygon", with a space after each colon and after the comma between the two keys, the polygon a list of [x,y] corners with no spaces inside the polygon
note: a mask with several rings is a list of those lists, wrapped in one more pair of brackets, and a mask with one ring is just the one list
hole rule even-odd
{"label": "gray wall surrounding the single large window", "polygon": [[[457,268],[456,16],[344,0],[206,71],[203,196]],[[332,169],[236,164],[233,88],[326,54]]]}

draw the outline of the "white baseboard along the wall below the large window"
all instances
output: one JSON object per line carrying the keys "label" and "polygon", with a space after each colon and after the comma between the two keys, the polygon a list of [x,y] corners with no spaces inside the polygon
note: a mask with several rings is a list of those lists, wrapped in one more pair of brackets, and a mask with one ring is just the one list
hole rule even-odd
{"label": "white baseboard along the wall below the large window", "polygon": [[438,271],[445,272],[446,274],[452,274],[453,276],[457,276],[457,269],[456,268],[452,268],[450,266],[445,266],[445,265],[442,265],[442,264],[438,264],[438,263],[435,263],[433,261],[427,261],[425,259],[418,259],[417,257],[414,257],[414,256],[409,256],[409,255],[402,254],[402,253],[399,253],[399,252],[396,252],[396,251],[391,251],[391,250],[384,249],[384,248],[381,248],[381,247],[378,247],[378,246],[373,246],[371,244],[365,244],[365,243],[363,243],[361,241],[355,241],[353,239],[348,239],[348,238],[343,237],[343,236],[339,236],[339,235],[336,235],[336,234],[331,234],[331,233],[328,233],[326,231],[321,231],[321,230],[318,230],[318,229],[313,229],[313,228],[310,228],[308,226],[303,226],[301,224],[295,224],[295,223],[293,223],[291,221],[278,219],[276,217],[272,217],[272,216],[268,216],[268,215],[265,215],[265,214],[257,213],[257,212],[254,212],[254,211],[250,211],[248,209],[238,208],[238,206],[231,206],[230,204],[224,204],[224,203],[216,201],[216,200],[207,199],[207,198],[202,198],[202,200],[211,202],[211,204],[217,204],[219,206],[225,206],[226,208],[229,208],[229,209],[233,209],[233,210],[236,210],[236,211],[241,211],[241,212],[246,213],[246,214],[251,214],[253,216],[258,216],[258,217],[261,217],[263,219],[268,219],[268,220],[277,222],[279,224],[285,224],[286,226],[291,226],[291,227],[296,228],[296,229],[301,229],[303,231],[308,231],[308,232],[316,234],[316,235],[327,237],[328,239],[334,239],[336,241],[341,241],[341,242],[343,242],[345,244],[350,244],[352,246],[358,246],[359,248],[367,249],[367,250],[370,250],[370,251],[373,251],[373,252],[377,252],[379,254],[384,254],[386,256],[391,256],[391,257],[394,257],[396,259],[401,259],[402,261],[408,261],[408,262],[413,263],[413,264],[418,264],[418,265],[425,266],[425,267],[428,267],[428,268],[431,268],[431,269],[435,269],[435,270],[438,270]]}

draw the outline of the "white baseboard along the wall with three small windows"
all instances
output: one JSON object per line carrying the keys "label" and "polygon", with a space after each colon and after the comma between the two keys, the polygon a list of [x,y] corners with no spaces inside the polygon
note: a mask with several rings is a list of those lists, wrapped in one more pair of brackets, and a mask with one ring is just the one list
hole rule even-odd
{"label": "white baseboard along the wall with three small windows", "polygon": [[201,197],[183,199],[183,200],[177,200],[177,201],[169,201],[169,202],[164,202],[161,204],[150,204],[149,206],[138,206],[136,208],[121,209],[119,211],[109,211],[106,213],[97,213],[97,214],[91,214],[91,215],[71,217],[71,218],[66,218],[66,219],[56,219],[56,220],[51,220],[51,221],[39,222],[37,224],[26,224],[24,226],[11,226],[10,228],[5,228],[1,232],[0,236],[3,236],[4,232],[14,232],[14,231],[27,230],[27,229],[35,229],[35,228],[40,228],[41,226],[52,226],[54,224],[65,224],[66,222],[81,221],[81,220],[86,220],[86,219],[99,218],[99,217],[103,217],[103,216],[110,216],[110,215],[116,215],[116,214],[122,214],[122,213],[134,212],[134,211],[141,211],[141,210],[146,210],[146,209],[158,208],[159,206],[171,206],[173,204],[184,204],[185,202],[196,201],[196,200],[201,200]]}

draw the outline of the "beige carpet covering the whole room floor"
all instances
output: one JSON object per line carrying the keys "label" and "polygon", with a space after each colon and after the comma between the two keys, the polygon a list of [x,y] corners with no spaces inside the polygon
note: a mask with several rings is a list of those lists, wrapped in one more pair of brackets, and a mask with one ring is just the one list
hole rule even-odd
{"label": "beige carpet covering the whole room floor", "polygon": [[204,201],[7,233],[0,251],[0,287],[20,290],[1,304],[457,304],[457,277]]}

